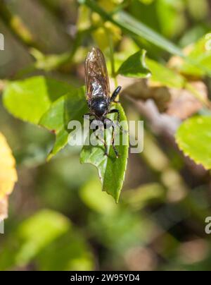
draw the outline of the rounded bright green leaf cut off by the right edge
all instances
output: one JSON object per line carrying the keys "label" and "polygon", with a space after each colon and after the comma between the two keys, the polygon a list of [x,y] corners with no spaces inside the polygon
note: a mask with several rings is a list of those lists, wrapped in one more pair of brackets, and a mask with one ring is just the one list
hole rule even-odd
{"label": "rounded bright green leaf cut off by the right edge", "polygon": [[184,121],[176,133],[179,148],[197,164],[211,169],[211,116],[195,116]]}

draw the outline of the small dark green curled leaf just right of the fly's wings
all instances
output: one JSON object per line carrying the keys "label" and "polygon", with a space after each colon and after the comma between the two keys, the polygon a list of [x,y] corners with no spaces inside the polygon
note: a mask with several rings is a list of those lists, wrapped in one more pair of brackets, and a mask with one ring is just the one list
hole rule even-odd
{"label": "small dark green curled leaf just right of the fly's wings", "polygon": [[145,57],[145,50],[132,54],[132,56],[129,56],[129,58],[122,63],[117,74],[134,78],[148,78],[151,76],[151,72],[146,67]]}

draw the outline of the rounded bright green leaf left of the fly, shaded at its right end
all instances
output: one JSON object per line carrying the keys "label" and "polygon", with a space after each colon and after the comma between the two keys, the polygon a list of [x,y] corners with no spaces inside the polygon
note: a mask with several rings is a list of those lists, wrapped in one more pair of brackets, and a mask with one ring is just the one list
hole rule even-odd
{"label": "rounded bright green leaf left of the fly, shaded at its right end", "polygon": [[70,91],[70,85],[36,76],[6,85],[4,107],[18,119],[39,123],[52,102]]}

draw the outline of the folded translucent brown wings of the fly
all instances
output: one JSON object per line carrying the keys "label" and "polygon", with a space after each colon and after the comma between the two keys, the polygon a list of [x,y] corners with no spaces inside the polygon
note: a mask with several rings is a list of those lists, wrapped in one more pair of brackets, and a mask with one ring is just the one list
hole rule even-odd
{"label": "folded translucent brown wings of the fly", "polygon": [[100,49],[92,48],[85,61],[87,99],[96,95],[110,96],[106,61]]}

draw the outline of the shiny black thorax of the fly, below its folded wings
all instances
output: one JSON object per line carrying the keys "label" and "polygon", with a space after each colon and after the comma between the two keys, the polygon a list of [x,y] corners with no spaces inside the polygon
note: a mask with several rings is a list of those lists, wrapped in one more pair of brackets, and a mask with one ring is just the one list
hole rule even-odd
{"label": "shiny black thorax of the fly, below its folded wings", "polygon": [[106,115],[110,108],[110,101],[105,96],[95,96],[90,102],[91,112],[96,114],[99,118]]}

